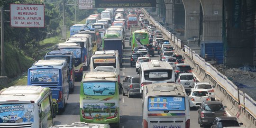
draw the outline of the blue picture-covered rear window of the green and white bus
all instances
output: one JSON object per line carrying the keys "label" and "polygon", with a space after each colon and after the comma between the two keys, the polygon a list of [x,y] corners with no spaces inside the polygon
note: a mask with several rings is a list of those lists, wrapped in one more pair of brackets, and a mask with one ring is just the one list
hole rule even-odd
{"label": "blue picture-covered rear window of the green and white bus", "polygon": [[108,96],[114,95],[116,82],[83,82],[84,95]]}

